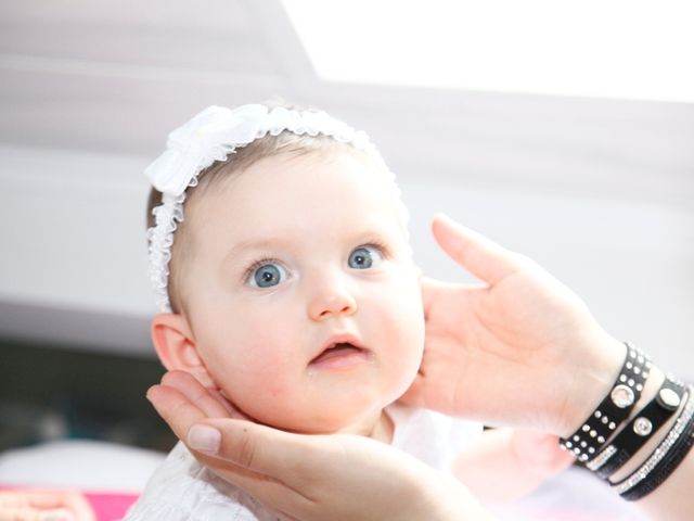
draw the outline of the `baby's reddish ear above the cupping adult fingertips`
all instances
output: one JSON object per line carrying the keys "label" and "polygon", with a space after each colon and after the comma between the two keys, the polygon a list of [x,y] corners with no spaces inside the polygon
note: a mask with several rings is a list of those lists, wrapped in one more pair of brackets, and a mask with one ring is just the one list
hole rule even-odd
{"label": "baby's reddish ear above the cupping adult fingertips", "polygon": [[152,319],[151,332],[156,354],[167,370],[190,372],[204,386],[215,386],[183,315],[156,315]]}

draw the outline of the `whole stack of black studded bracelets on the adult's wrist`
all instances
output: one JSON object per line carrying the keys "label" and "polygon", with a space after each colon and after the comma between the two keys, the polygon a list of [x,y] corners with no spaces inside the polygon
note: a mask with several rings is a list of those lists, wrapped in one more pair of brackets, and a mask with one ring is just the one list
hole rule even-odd
{"label": "whole stack of black studded bracelets on the adult's wrist", "polygon": [[[652,363],[632,344],[626,345],[627,356],[611,392],[581,427],[560,444],[622,498],[637,500],[665,482],[694,445],[694,386],[685,386],[668,376],[655,398],[631,415]],[[635,471],[617,483],[609,480],[676,416],[667,435]]]}

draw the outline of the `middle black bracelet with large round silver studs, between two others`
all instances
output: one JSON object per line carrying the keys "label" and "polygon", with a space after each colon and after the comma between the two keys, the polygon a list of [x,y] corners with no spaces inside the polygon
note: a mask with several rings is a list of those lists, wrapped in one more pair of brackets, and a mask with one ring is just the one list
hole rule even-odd
{"label": "middle black bracelet with large round silver studs, between two others", "polygon": [[586,467],[602,479],[619,470],[677,411],[684,384],[668,377],[658,393]]}

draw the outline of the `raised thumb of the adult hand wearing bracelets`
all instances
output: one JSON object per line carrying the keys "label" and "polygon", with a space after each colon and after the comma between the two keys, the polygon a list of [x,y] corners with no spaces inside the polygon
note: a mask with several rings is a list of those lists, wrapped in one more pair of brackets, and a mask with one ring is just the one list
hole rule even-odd
{"label": "raised thumb of the adult hand wearing bracelets", "polygon": [[524,257],[444,214],[434,217],[432,232],[449,257],[489,285],[522,268]]}

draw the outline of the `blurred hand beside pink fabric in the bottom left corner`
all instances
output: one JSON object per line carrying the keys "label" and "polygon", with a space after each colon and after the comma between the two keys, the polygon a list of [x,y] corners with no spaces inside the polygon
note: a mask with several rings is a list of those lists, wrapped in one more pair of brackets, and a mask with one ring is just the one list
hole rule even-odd
{"label": "blurred hand beside pink fabric in the bottom left corner", "polygon": [[94,521],[85,496],[73,491],[0,491],[0,521]]}

